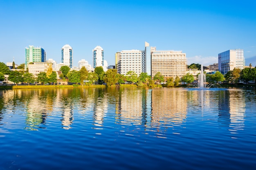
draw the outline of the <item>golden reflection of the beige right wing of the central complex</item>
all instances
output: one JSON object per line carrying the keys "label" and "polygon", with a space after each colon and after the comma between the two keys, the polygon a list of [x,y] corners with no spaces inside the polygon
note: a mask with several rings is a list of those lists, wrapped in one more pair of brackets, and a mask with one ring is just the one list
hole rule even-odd
{"label": "golden reflection of the beige right wing of the central complex", "polygon": [[165,131],[165,128],[169,127],[173,133],[180,134],[180,128],[177,126],[186,121],[186,109],[186,91],[155,88],[152,91],[151,122],[147,126],[155,127],[157,131]]}

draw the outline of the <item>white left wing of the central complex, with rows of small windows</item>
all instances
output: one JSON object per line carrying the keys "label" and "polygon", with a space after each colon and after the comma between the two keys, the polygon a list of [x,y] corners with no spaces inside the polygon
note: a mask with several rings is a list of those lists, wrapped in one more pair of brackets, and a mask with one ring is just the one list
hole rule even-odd
{"label": "white left wing of the central complex, with rows of small windows", "polygon": [[116,53],[116,62],[119,74],[126,75],[128,71],[134,71],[137,75],[145,73],[145,51],[122,50]]}

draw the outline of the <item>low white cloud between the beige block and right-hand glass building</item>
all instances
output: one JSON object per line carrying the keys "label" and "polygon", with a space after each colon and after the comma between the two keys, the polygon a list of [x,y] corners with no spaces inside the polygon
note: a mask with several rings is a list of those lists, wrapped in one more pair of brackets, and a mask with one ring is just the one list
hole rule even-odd
{"label": "low white cloud between the beige block and right-hand glass building", "polygon": [[188,65],[195,64],[203,64],[203,66],[209,66],[210,64],[218,63],[218,57],[203,57],[201,55],[196,55],[194,57],[186,57],[188,61]]}

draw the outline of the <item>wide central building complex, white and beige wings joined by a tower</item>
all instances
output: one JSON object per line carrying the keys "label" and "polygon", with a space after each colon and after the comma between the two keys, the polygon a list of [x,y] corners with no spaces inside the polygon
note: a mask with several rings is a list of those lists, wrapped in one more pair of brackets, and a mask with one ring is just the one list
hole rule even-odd
{"label": "wide central building complex, white and beige wings joined by a tower", "polygon": [[156,47],[149,46],[145,42],[145,50],[123,50],[115,54],[117,73],[126,75],[128,71],[134,71],[137,75],[148,73],[152,78],[157,72],[164,79],[186,74],[186,53],[182,51],[159,51]]}

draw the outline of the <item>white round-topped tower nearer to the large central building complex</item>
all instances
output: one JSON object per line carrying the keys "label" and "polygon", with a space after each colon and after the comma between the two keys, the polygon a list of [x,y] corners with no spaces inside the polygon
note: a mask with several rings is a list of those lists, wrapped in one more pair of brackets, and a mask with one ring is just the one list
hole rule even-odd
{"label": "white round-topped tower nearer to the large central building complex", "polygon": [[98,66],[102,66],[104,68],[104,50],[102,49],[101,46],[96,46],[92,50],[92,63],[93,63],[93,68]]}

